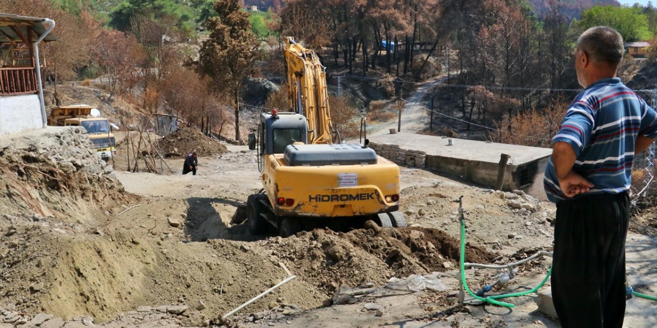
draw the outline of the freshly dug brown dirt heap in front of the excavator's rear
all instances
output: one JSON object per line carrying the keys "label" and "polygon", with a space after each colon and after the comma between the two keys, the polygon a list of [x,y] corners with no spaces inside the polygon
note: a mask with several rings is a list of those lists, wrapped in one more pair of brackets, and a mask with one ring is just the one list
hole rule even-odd
{"label": "freshly dug brown dirt heap in front of the excavator's rear", "polygon": [[[459,241],[440,230],[384,229],[374,222],[366,227],[348,233],[313,230],[286,239],[274,237],[265,249],[327,296],[343,283],[383,285],[390,277],[442,272],[458,263]],[[468,262],[486,263],[494,257],[480,247],[466,247]]]}

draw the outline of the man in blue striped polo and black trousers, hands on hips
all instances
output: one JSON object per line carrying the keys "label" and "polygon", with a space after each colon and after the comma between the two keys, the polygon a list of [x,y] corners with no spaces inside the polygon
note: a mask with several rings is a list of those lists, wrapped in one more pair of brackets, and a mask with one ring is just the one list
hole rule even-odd
{"label": "man in blue striped polo and black trousers, hands on hips", "polygon": [[657,113],[616,77],[623,39],[606,26],[579,36],[585,88],[553,138],[545,192],[556,203],[552,292],[564,328],[618,327],[625,315],[625,235],[632,163],[657,138]]}

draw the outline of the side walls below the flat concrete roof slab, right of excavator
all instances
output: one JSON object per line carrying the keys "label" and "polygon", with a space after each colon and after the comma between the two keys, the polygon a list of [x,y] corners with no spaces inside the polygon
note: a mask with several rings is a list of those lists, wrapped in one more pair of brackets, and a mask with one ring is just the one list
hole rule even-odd
{"label": "side walls below the flat concrete roof slab, right of excavator", "polygon": [[[463,179],[493,188],[497,182],[498,163],[473,161],[457,157],[427,155],[419,150],[405,150],[395,144],[376,144],[370,142],[376,154],[390,159],[397,165],[431,168],[441,173],[454,174]],[[523,163],[507,165],[503,190],[523,190],[539,199],[547,199],[543,191],[543,172],[548,157]]]}

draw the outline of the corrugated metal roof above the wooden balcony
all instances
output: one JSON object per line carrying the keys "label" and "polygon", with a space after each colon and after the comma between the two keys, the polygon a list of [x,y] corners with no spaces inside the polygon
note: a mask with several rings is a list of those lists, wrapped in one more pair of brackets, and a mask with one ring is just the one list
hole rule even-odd
{"label": "corrugated metal roof above the wooden balcony", "polygon": [[[3,14],[0,12],[0,43],[8,42],[22,42],[18,33],[14,31],[12,26],[16,28],[22,35],[28,37],[28,33],[32,36],[32,41],[37,41],[39,36],[43,35],[47,30],[44,26],[45,18],[18,16],[13,14]],[[49,33],[43,41],[56,41],[57,37],[53,33]]]}

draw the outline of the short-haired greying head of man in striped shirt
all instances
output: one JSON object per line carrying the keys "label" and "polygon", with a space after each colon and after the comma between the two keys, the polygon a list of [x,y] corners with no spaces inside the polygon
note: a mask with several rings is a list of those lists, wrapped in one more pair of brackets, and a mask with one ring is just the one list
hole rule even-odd
{"label": "short-haired greying head of man in striped shirt", "polygon": [[623,59],[623,37],[608,26],[595,26],[579,35],[578,51],[586,52],[596,66],[616,68]]}

